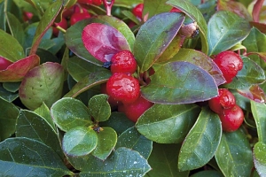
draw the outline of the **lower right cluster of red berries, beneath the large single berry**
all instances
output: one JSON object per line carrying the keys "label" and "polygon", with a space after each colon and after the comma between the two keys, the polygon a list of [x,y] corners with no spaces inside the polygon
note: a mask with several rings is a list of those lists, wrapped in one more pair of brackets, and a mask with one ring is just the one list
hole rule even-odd
{"label": "lower right cluster of red berries, beneath the large single berry", "polygon": [[228,89],[218,89],[218,96],[210,99],[208,105],[219,115],[223,131],[233,132],[242,125],[244,113],[236,104],[235,96]]}

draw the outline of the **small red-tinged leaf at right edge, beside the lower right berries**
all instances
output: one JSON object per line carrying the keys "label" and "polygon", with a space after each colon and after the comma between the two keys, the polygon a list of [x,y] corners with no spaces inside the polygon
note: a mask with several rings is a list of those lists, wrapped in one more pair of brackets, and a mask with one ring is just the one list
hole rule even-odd
{"label": "small red-tinged leaf at right edge, beside the lower right berries", "polygon": [[242,96],[246,96],[249,99],[254,100],[258,103],[265,103],[266,96],[263,89],[258,85],[252,85],[247,89],[238,89],[238,92]]}

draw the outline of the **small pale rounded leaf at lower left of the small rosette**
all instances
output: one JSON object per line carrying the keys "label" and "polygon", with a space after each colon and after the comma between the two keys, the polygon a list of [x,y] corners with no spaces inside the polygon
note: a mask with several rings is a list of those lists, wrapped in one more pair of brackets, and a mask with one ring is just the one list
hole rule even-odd
{"label": "small pale rounded leaf at lower left of the small rosette", "polygon": [[98,136],[91,127],[74,127],[66,132],[62,148],[67,156],[86,156],[97,146]]}

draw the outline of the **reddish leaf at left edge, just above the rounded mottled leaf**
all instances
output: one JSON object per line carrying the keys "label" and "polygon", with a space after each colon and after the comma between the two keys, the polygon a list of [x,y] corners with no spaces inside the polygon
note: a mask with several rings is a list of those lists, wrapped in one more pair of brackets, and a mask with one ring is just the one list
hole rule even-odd
{"label": "reddish leaf at left edge, just above the rounded mottled leaf", "polygon": [[20,59],[9,65],[5,70],[0,71],[0,81],[22,81],[26,73],[36,65],[40,65],[40,58],[37,55]]}

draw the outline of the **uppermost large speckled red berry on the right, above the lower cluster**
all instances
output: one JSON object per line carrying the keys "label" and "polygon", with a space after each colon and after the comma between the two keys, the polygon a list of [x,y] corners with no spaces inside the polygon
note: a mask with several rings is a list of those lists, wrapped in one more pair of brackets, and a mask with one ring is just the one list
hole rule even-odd
{"label": "uppermost large speckled red berry on the right, above the lower cluster", "polygon": [[216,55],[214,62],[222,71],[226,83],[230,83],[243,67],[242,58],[231,50],[223,51]]}

